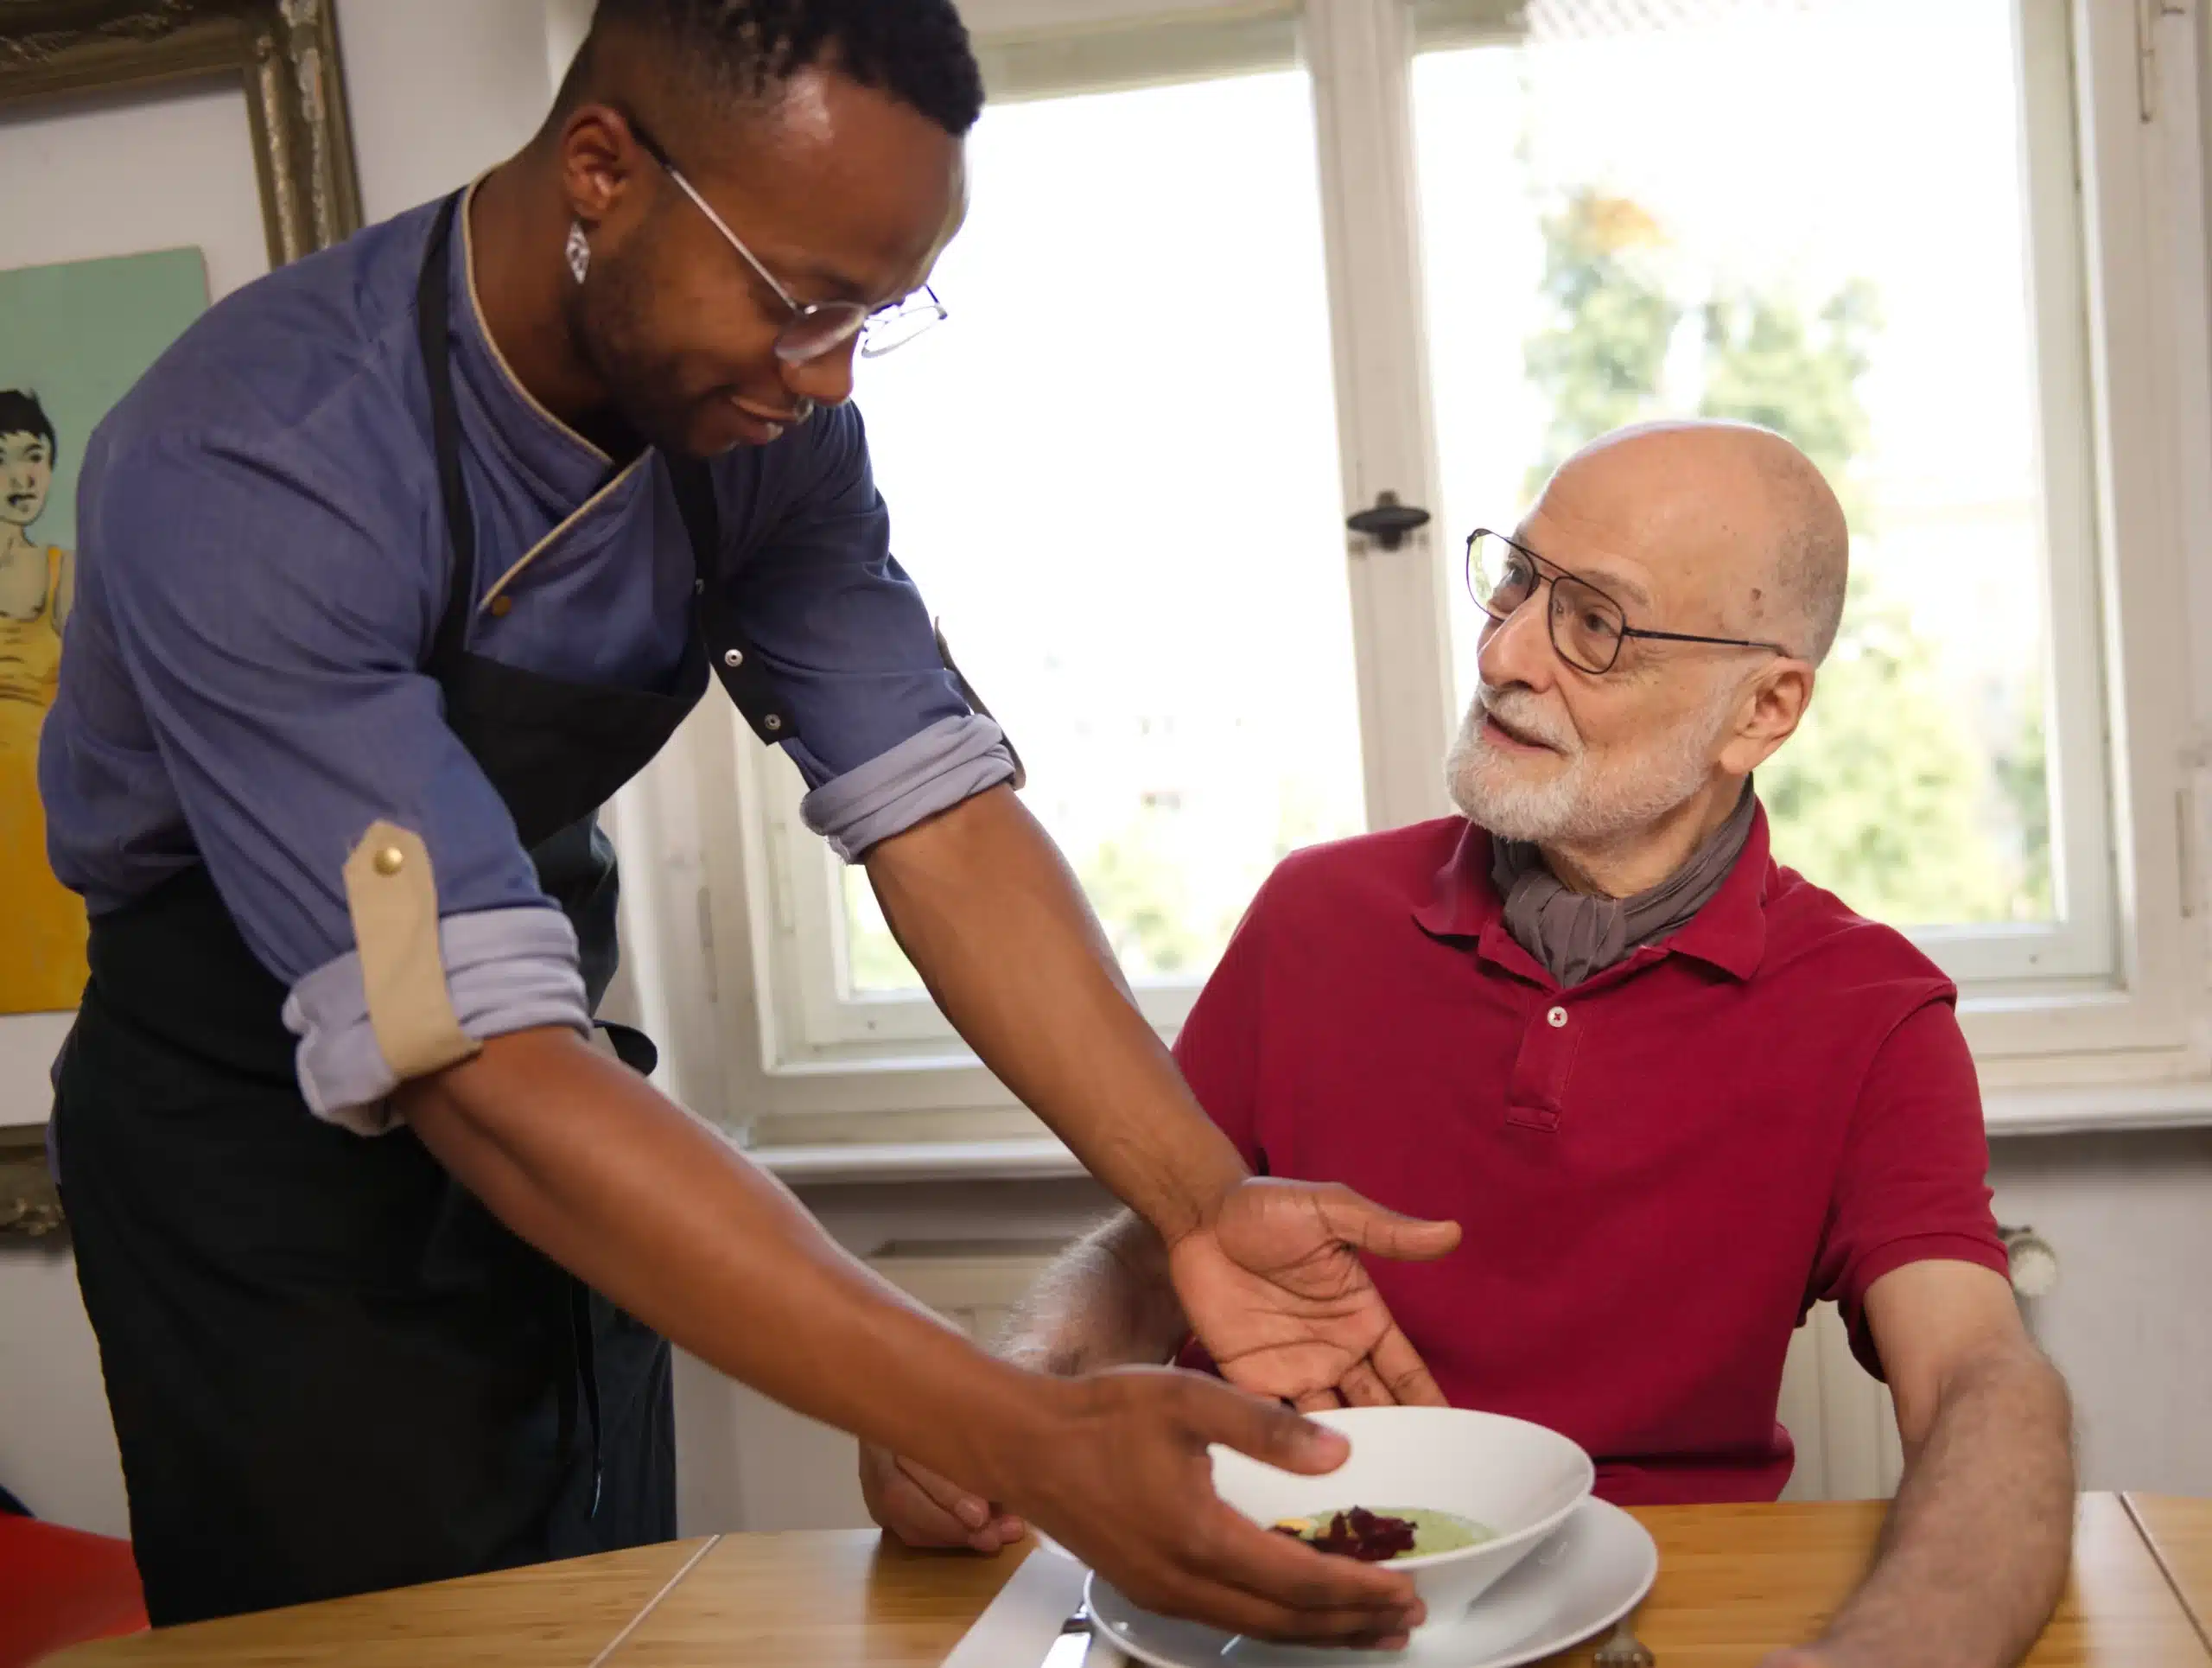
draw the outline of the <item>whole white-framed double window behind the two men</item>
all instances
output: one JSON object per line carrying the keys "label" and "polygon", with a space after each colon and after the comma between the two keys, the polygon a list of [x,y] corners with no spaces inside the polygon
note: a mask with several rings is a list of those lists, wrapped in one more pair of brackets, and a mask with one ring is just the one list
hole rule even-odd
{"label": "whole white-framed double window behind the two men", "polygon": [[[1595,431],[1712,411],[1854,518],[1843,644],[1761,776],[1781,858],[1962,982],[1991,1086],[2201,1071],[2190,18],[2143,71],[2135,9],[2066,0],[1119,7],[969,7],[953,323],[860,405],[1164,1031],[1283,849],[1447,810],[1464,531]],[[1394,551],[1343,529],[1383,491],[1436,511]],[[699,832],[657,838],[703,865],[730,1115],[1018,1128],[794,772],[695,732]]]}

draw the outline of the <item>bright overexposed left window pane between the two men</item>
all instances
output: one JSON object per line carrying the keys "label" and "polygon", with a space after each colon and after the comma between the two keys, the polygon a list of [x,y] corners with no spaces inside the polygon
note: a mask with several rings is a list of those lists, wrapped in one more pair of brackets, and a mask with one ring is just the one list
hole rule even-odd
{"label": "bright overexposed left window pane between the two men", "polygon": [[[1130,978],[1188,987],[1365,825],[1312,91],[1006,104],[971,168],[960,334],[860,367],[876,478]],[[849,995],[918,989],[858,869],[843,903]]]}

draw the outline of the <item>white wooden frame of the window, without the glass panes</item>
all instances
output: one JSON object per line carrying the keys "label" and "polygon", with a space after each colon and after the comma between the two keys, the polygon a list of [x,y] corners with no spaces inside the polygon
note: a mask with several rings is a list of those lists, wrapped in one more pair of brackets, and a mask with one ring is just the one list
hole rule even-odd
{"label": "white wooden frame of the window, without the glass panes", "polygon": [[[2073,148],[2068,166],[2048,153],[2059,126],[2028,119],[2028,144],[2046,146],[2031,155],[2035,265],[2059,279],[2035,290],[2048,542],[2095,549],[2055,575],[2051,608],[2053,869],[2068,898],[2110,907],[2073,911],[2070,931],[2046,934],[2039,976],[2017,958],[1962,953],[2002,931],[1916,938],[1962,978],[1986,1091],[2179,1084],[2190,1097],[2203,1084],[2212,1104],[2199,856],[2212,830],[2212,737],[2199,717],[2212,712],[2212,664],[2190,657],[2192,628],[2212,626],[2201,24],[2194,13],[2157,24],[2157,117],[2146,119],[2135,7],[2017,4],[2026,97],[2064,88]],[[1141,18],[1119,15],[1139,7]],[[1130,66],[1146,80],[1212,75],[1228,49],[1298,27],[1314,77],[1343,496],[1438,502],[1409,119],[1416,4],[973,0],[967,11],[998,75],[1026,64],[1033,80],[1015,97],[1073,91],[1066,77],[1086,66],[1102,84],[1128,84]],[[1099,29],[1113,51],[1079,51]],[[1376,294],[1413,305],[1367,305]],[[2088,440],[2053,445],[2075,400],[2088,405]],[[1438,759],[1458,719],[1451,557],[1440,527],[1396,553],[1347,542],[1371,827],[1449,810]],[[624,852],[659,869],[639,885],[646,865],[626,865],[624,929],[633,967],[655,969],[639,973],[653,989],[637,1011],[672,1038],[670,1086],[763,1148],[1035,1137],[1037,1122],[925,998],[838,993],[836,865],[799,821],[799,796],[796,772],[714,701],[611,812]],[[1146,989],[1164,1035],[1194,991]],[[2066,1117],[2099,1124],[2095,1111]]]}

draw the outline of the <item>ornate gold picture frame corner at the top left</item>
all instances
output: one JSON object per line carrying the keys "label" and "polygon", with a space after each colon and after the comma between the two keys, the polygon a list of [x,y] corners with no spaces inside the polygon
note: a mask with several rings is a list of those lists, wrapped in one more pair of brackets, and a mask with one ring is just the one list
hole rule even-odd
{"label": "ornate gold picture frame corner at the top left", "polygon": [[0,0],[0,108],[239,77],[270,265],[361,230],[336,0]]}

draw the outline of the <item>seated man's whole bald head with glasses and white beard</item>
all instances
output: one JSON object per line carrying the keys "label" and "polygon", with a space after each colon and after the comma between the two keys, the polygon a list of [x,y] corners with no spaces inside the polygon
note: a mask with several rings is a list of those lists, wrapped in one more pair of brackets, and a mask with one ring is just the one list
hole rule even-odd
{"label": "seated man's whole bald head with glasses and white beard", "polygon": [[1453,803],[1582,892],[1659,885],[1796,734],[1847,546],[1836,496],[1776,434],[1652,423],[1590,442],[1520,522],[1537,560],[1478,571],[1495,588],[1444,761]]}

